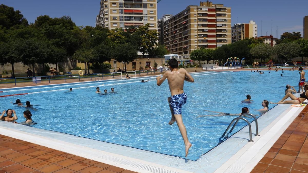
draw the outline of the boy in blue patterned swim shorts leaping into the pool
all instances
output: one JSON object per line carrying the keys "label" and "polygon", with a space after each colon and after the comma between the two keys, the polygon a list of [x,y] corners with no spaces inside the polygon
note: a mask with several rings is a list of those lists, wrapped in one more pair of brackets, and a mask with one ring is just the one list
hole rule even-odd
{"label": "boy in blue patterned swim shorts leaping into the pool", "polygon": [[194,82],[194,79],[184,68],[177,69],[179,63],[176,59],[171,59],[168,64],[170,71],[165,72],[162,78],[160,78],[160,76],[156,77],[157,85],[160,86],[165,81],[165,79],[168,79],[169,89],[172,95],[168,98],[172,115],[169,125],[172,125],[176,121],[176,124],[179,127],[181,135],[184,139],[186,157],[192,144],[188,141],[186,128],[182,119],[181,109],[182,105],[186,103],[187,99],[187,95],[184,93],[183,87],[184,80],[188,82]]}

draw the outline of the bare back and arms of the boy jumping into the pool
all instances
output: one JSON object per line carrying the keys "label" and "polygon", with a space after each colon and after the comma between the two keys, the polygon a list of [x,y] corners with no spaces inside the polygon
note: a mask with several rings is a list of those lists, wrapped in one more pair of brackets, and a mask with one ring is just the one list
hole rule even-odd
{"label": "bare back and arms of the boy jumping into the pool", "polygon": [[160,80],[157,80],[157,85],[160,86],[165,79],[168,79],[171,95],[179,95],[184,93],[184,80],[188,82],[194,82],[193,77],[184,68],[180,68],[179,70],[173,69],[172,71],[167,71],[166,73],[164,73],[163,77]]}

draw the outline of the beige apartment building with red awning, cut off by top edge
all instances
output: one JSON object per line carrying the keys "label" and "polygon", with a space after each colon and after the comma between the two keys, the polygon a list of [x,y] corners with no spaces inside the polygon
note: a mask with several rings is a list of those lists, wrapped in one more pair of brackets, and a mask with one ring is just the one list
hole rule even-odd
{"label": "beige apartment building with red awning, cut off by top edge", "polygon": [[101,0],[96,26],[108,29],[136,28],[150,24],[151,30],[157,30],[156,0]]}

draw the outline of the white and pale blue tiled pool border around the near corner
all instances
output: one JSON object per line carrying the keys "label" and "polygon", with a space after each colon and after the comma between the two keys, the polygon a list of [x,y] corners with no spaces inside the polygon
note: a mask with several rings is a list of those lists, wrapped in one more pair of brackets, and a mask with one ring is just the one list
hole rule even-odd
{"label": "white and pale blue tiled pool border around the near corner", "polygon": [[254,142],[246,126],[197,161],[10,122],[0,122],[0,134],[136,172],[250,172],[302,109],[280,104],[258,118]]}

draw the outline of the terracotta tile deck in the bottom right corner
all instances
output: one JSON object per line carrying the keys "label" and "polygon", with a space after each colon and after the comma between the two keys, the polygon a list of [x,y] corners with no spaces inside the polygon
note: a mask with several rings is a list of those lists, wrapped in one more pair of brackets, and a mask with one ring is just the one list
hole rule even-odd
{"label": "terracotta tile deck in the bottom right corner", "polygon": [[294,119],[251,172],[308,172],[307,136],[308,106]]}

